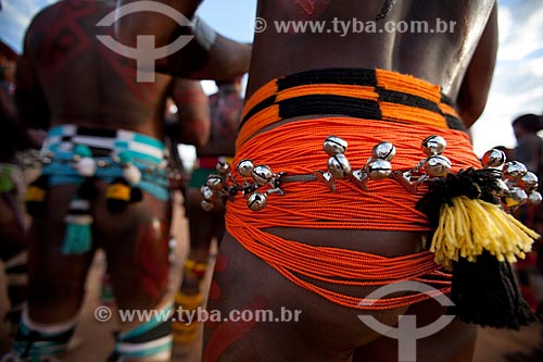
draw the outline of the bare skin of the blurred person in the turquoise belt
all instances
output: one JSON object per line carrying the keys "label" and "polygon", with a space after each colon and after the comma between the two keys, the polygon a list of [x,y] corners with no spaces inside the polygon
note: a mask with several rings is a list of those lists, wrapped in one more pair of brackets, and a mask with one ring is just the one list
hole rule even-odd
{"label": "bare skin of the blurred person in the turquoise belt", "polygon": [[[209,137],[209,118],[185,108],[180,89],[200,87],[167,75],[137,83],[127,59],[102,46],[96,24],[115,9],[115,1],[62,1],[41,12],[27,30],[17,70],[17,103],[27,126],[48,129],[59,124],[124,128],[163,139],[164,103],[171,96],[190,116],[171,137],[201,145]],[[55,26],[51,27],[51,24]],[[201,88],[200,88],[201,90]],[[190,132],[188,132],[190,130]],[[106,184],[97,180],[92,201],[94,247],[105,250],[109,274],[121,309],[150,310],[165,303],[171,203],[143,192],[143,200],[114,215],[105,205]],[[64,255],[64,215],[76,188],[48,190],[47,213],[29,232],[29,316],[59,323],[76,316],[94,250]],[[126,330],[141,322],[123,323]]]}

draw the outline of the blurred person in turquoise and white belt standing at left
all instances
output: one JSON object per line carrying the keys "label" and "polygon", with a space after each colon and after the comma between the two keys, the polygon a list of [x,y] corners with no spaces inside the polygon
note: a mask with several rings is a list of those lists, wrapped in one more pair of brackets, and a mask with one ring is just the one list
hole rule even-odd
{"label": "blurred person in turquoise and white belt standing at left", "polygon": [[[138,82],[130,60],[98,40],[114,32],[97,23],[114,13],[115,3],[60,1],[36,15],[26,32],[18,109],[26,125],[48,136],[41,176],[26,194],[33,214],[28,303],[4,362],[62,358],[98,248],[105,252],[118,309],[156,313],[119,321],[109,361],[171,360],[164,104],[175,85],[161,74]],[[209,130],[209,124],[190,125],[195,120],[175,129]],[[207,138],[201,136],[190,142]]]}

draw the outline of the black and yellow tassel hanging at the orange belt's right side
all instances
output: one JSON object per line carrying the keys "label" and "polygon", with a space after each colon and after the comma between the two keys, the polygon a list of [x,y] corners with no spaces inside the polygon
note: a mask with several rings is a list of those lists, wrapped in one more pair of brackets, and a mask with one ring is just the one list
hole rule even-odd
{"label": "black and yellow tassel hanging at the orange belt's right side", "polygon": [[[501,191],[500,178],[501,173],[495,168],[469,168],[456,174],[449,174],[444,178],[430,183],[429,191],[419,200],[417,209],[428,216],[430,225],[434,229],[441,228],[441,233],[443,233],[444,224],[446,224],[446,217],[442,217],[443,205],[447,205],[449,211],[457,208],[458,204],[465,209],[477,205],[478,208],[472,209],[481,210],[481,212],[493,212],[490,216],[493,223],[504,223],[503,228],[515,229],[514,237],[518,235],[525,240],[526,238],[534,238],[535,233],[518,227],[510,215],[500,210],[498,207],[489,205],[489,203],[500,203],[497,198]],[[479,205],[481,207],[479,208]],[[475,219],[477,215],[467,215],[467,219],[472,217]],[[490,225],[473,224],[471,227],[484,228],[490,227]],[[471,233],[472,228],[469,230],[471,237],[476,235],[476,233]],[[447,236],[451,237],[450,234]],[[434,237],[435,234],[432,234],[427,248],[432,249],[438,254],[440,250],[435,249],[443,248],[440,242],[445,242],[446,238],[443,237],[439,242],[435,242]],[[456,238],[454,235],[452,237]],[[504,241],[503,238],[498,237],[496,240]],[[451,299],[455,303],[453,313],[464,322],[496,328],[518,329],[534,322],[535,315],[520,294],[510,264],[503,260],[509,255],[504,258],[495,249],[489,247],[487,241],[472,240],[473,245],[481,246],[481,251],[478,254],[464,255],[466,258],[463,258],[462,251],[458,251],[455,257],[452,257],[450,263],[443,263],[443,259],[440,259],[444,266],[452,266],[453,270],[451,295]],[[516,240],[505,241],[516,245]],[[519,241],[518,245],[522,244]],[[516,251],[516,255],[521,255],[522,251],[526,250],[519,247]]]}

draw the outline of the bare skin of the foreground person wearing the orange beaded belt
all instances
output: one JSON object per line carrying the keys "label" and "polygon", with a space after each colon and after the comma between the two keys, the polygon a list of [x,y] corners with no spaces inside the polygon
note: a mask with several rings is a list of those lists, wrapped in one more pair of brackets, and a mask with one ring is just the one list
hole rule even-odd
{"label": "bare skin of the foreground person wearing the orange beaded belt", "polygon": [[[130,2],[119,0],[119,4]],[[199,1],[162,0],[190,16]],[[267,30],[255,34],[247,97],[267,82],[295,72],[324,67],[384,68],[412,74],[441,85],[442,92],[456,101],[465,125],[481,114],[493,74],[496,53],[496,9],[493,0],[396,1],[386,21],[435,18],[455,22],[451,33],[349,33],[278,34],[274,21],[334,18],[370,21],[382,9],[382,0],[355,1],[258,1],[257,14],[267,21]],[[141,14],[140,16],[146,16]],[[172,29],[161,27],[153,15],[146,24],[153,34],[167,39]],[[140,20],[141,21],[141,20]],[[154,25],[149,25],[153,24]],[[149,28],[148,28],[149,29]],[[121,36],[142,30],[136,24],[121,24]],[[340,54],[340,55],[339,55]],[[171,71],[178,68],[171,66]],[[320,114],[311,115],[318,117]],[[295,118],[275,124],[285,124]],[[424,235],[407,232],[327,230],[276,227],[267,230],[286,239],[313,246],[333,246],[379,255],[402,255],[421,250]],[[341,240],[332,242],[331,240]],[[207,328],[204,361],[397,361],[397,340],[387,339],[357,319],[361,312],[330,303],[294,286],[262,260],[243,249],[226,234],[219,258],[227,260],[213,280],[214,296],[209,309],[223,314],[231,310],[260,308],[301,309],[299,323],[257,325],[223,323]],[[370,289],[327,285],[334,291],[363,298]],[[262,300],[264,300],[262,302]],[[389,325],[397,322],[405,309],[375,312]],[[430,302],[409,307],[407,314],[431,322],[444,311]],[[434,317],[435,316],[435,317]],[[247,327],[247,329],[245,329]],[[455,321],[435,335],[418,340],[419,362],[470,361],[476,339],[475,326]]]}

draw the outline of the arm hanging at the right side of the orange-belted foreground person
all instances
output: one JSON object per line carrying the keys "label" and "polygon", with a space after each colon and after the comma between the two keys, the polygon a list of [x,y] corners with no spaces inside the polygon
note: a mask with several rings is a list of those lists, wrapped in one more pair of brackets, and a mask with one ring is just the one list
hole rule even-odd
{"label": "arm hanging at the right side of the orange-belted foreground person", "polygon": [[487,105],[497,53],[497,4],[494,4],[479,45],[464,76],[456,105],[470,127]]}

